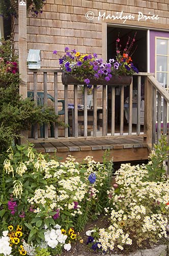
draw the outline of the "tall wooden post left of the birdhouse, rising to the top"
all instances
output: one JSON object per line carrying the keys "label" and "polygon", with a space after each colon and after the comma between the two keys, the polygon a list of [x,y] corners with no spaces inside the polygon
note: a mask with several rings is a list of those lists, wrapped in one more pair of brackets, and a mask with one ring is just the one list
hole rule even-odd
{"label": "tall wooden post left of the birdhouse, rising to the top", "polygon": [[[22,98],[27,98],[27,31],[26,31],[26,0],[18,1],[18,28],[19,28],[19,73],[20,86],[19,94]],[[25,143],[28,138],[27,131],[21,131],[20,143]]]}

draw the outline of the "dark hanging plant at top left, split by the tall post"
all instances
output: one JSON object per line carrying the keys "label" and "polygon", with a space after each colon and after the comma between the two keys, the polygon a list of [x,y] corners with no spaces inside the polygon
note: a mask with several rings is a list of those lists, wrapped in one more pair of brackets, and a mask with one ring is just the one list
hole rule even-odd
{"label": "dark hanging plant at top left, split by the tall post", "polygon": [[[3,17],[15,16],[18,17],[18,1],[19,0],[1,0],[0,14]],[[38,16],[42,13],[42,8],[46,0],[27,0],[27,12],[31,11],[33,16]]]}

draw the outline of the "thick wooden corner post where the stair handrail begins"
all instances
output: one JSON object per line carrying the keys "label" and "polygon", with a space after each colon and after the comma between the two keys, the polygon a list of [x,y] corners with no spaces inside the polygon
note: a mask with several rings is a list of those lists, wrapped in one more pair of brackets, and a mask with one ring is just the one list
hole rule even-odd
{"label": "thick wooden corner post where the stair handrail begins", "polygon": [[146,143],[152,147],[153,133],[153,88],[145,77],[145,121],[144,133],[147,135]]}

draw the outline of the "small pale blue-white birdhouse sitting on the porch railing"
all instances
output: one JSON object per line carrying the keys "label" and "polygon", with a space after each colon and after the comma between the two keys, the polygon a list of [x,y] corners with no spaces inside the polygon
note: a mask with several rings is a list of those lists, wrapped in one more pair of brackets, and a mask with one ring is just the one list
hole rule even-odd
{"label": "small pale blue-white birdhouse sitting on the porch railing", "polygon": [[29,50],[27,56],[27,65],[29,69],[40,69],[41,68],[41,51],[40,50]]}

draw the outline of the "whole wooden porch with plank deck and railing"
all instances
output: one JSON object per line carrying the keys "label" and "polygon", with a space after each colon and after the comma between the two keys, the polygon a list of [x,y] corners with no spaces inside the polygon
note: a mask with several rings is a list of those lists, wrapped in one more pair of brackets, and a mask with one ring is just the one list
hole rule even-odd
{"label": "whole wooden porch with plank deck and railing", "polygon": [[[101,101],[97,98],[97,86],[93,90],[92,106],[92,125],[89,125],[89,114],[87,106],[87,86],[84,86],[83,94],[83,125],[79,134],[79,110],[78,110],[78,86],[64,84],[64,98],[58,101],[59,76],[61,70],[41,69],[28,70],[34,77],[34,101],[38,104],[38,74],[43,74],[43,104],[51,102],[48,100],[48,83],[53,82],[53,108],[56,114],[61,111],[59,101],[63,100],[65,104],[62,118],[66,127],[60,127],[57,123],[53,124],[53,133],[51,133],[51,124],[44,124],[43,133],[40,133],[38,125],[34,127],[32,137],[29,141],[35,144],[35,148],[42,153],[55,154],[63,160],[68,155],[75,156],[82,160],[85,156],[93,156],[96,161],[102,161],[105,150],[110,151],[110,157],[114,157],[115,162],[145,160],[148,158],[153,143],[161,137],[161,133],[168,136],[168,106],[169,95],[161,84],[154,78],[152,73],[134,74],[130,86],[121,86],[119,84],[119,109],[117,110],[116,87],[100,86],[102,95]],[[50,75],[50,79],[48,79]],[[53,76],[53,80],[51,80]],[[73,90],[73,115],[72,127],[69,120],[69,87]],[[110,91],[110,108],[107,108],[107,88]],[[134,90],[133,90],[134,89]],[[127,90],[127,103],[126,103]],[[144,92],[144,93],[143,93]],[[142,99],[144,100],[144,118]],[[101,102],[101,103],[99,103]],[[127,104],[127,120],[125,117],[125,108]],[[101,108],[101,125],[98,128],[98,108]],[[134,109],[134,112],[133,112]],[[119,123],[116,121],[118,111]],[[133,124],[133,113],[136,123]],[[109,122],[107,122],[107,119]],[[162,125],[161,125],[162,123]],[[161,130],[162,127],[162,130]],[[72,132],[70,132],[70,130]],[[64,131],[64,133],[63,133]],[[40,135],[43,137],[40,137]]]}

